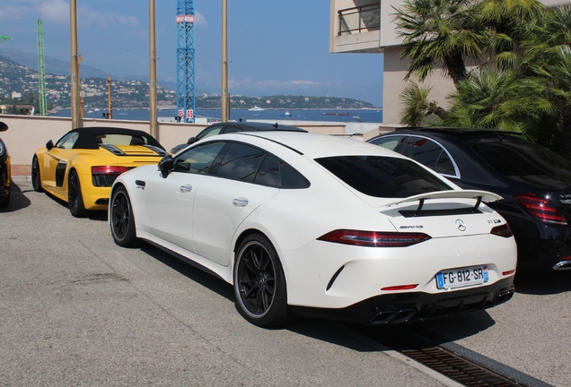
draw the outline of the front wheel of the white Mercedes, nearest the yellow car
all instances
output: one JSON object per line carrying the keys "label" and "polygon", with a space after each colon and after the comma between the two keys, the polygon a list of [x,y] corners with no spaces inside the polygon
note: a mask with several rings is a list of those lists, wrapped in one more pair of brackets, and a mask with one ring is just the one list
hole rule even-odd
{"label": "front wheel of the white Mercedes, nearest the yellow car", "polygon": [[113,240],[123,247],[136,247],[135,218],[129,195],[124,186],[119,186],[111,195],[110,228]]}

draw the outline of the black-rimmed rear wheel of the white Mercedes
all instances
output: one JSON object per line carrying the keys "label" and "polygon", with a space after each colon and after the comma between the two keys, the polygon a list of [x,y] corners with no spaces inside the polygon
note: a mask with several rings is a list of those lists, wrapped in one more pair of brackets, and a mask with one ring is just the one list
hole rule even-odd
{"label": "black-rimmed rear wheel of the white Mercedes", "polygon": [[259,327],[286,323],[286,277],[276,249],[268,238],[247,236],[236,252],[233,272],[236,309]]}

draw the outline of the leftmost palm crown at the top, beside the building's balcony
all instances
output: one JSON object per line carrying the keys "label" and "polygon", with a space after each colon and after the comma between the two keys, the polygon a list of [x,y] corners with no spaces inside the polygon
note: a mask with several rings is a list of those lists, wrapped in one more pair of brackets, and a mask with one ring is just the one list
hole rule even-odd
{"label": "leftmost palm crown at the top, beside the building's balcony", "polygon": [[478,21],[470,0],[406,0],[395,9],[397,34],[403,39],[401,58],[409,57],[408,73],[420,81],[441,69],[454,84],[464,80],[466,62],[479,63],[488,30]]}

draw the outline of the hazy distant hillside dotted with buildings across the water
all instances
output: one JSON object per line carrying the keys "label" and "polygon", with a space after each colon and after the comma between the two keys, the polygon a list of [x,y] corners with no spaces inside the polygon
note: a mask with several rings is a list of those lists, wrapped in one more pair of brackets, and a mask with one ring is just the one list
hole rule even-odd
{"label": "hazy distant hillside dotted with buildings across the water", "polygon": [[[3,54],[8,51],[10,56]],[[13,60],[15,59],[15,60]],[[70,66],[65,61],[46,58],[46,89],[48,105],[69,107],[71,104],[69,84]],[[35,55],[18,50],[0,49],[0,103],[22,103],[22,98],[34,95],[38,99],[38,73]],[[93,74],[93,75],[92,75]],[[107,107],[109,74],[82,65],[81,90],[85,107]],[[148,107],[148,75],[130,76],[128,80],[113,77],[113,106],[116,108]],[[172,82],[157,82],[157,103],[162,107],[176,107],[176,87]],[[197,91],[197,108],[220,108],[220,97]],[[15,97],[14,97],[15,96]],[[37,101],[29,102],[36,105]],[[313,109],[361,109],[375,108],[373,104],[359,99],[341,97],[308,97],[303,95],[272,95],[248,97],[231,95],[232,108],[313,108]]]}

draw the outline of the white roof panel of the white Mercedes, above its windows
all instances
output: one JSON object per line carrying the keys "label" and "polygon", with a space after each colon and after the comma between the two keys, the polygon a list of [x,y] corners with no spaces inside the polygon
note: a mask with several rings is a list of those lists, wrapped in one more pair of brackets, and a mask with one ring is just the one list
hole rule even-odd
{"label": "white roof panel of the white Mercedes, above its windows", "polygon": [[[390,156],[395,158],[404,158],[397,152],[387,150],[377,145],[362,142],[360,140],[347,139],[345,137],[336,137],[329,134],[318,133],[295,133],[295,132],[241,132],[219,134],[216,138],[211,137],[212,141],[217,140],[238,140],[249,142],[252,145],[261,146],[264,144],[267,150],[280,146],[294,150],[299,154],[309,156],[312,159],[340,156],[340,155],[376,155]],[[268,140],[268,142],[260,142],[259,140]]]}

